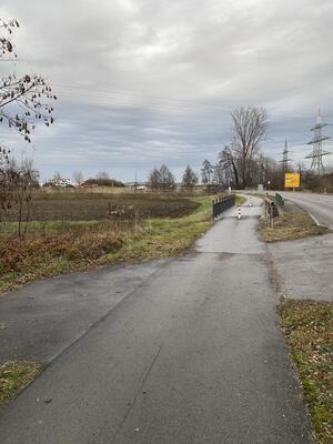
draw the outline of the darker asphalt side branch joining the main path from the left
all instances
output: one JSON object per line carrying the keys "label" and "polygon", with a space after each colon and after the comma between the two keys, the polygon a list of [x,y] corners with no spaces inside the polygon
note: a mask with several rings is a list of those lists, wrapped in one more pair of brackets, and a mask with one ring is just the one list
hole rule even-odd
{"label": "darker asphalt side branch joining the main path from the left", "polygon": [[0,362],[49,364],[165,261],[50,278],[0,297]]}

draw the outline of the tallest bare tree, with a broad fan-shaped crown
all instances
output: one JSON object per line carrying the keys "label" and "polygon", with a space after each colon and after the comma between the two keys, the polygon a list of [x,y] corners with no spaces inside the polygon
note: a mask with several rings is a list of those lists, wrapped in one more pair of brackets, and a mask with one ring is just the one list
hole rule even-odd
{"label": "tallest bare tree, with a broad fan-shaped crown", "polygon": [[268,113],[263,108],[240,108],[231,113],[233,135],[231,153],[242,188],[251,183],[251,165],[259,153],[268,128]]}

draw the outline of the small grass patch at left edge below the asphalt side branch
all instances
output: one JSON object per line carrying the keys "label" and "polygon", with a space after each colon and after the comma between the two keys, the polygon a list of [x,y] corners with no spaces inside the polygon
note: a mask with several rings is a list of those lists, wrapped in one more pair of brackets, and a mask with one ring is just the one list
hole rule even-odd
{"label": "small grass patch at left edge below the asphalt side branch", "polygon": [[7,362],[0,364],[0,406],[14,397],[42,370],[34,362]]}

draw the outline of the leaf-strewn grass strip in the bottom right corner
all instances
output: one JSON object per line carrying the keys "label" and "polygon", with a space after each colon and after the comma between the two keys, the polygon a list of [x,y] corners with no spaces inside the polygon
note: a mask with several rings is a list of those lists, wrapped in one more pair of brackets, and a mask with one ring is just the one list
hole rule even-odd
{"label": "leaf-strewn grass strip in the bottom right corner", "polygon": [[317,444],[333,443],[333,303],[285,301],[282,326],[291,347]]}

